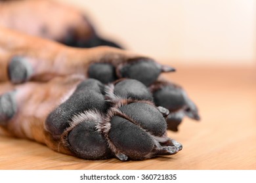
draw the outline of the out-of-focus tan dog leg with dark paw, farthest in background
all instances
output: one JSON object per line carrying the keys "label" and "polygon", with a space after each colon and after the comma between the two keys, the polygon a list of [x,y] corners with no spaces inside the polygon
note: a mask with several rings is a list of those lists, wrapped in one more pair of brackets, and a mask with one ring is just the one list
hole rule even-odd
{"label": "out-of-focus tan dog leg with dark paw, farthest in background", "polygon": [[68,46],[120,47],[99,37],[84,12],[57,1],[0,1],[0,27],[62,42]]}

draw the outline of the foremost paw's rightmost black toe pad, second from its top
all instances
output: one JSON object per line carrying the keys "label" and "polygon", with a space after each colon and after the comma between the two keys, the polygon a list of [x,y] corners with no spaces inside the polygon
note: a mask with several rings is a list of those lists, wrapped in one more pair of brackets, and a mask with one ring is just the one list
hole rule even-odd
{"label": "foremost paw's rightmost black toe pad, second from its top", "polygon": [[119,110],[152,135],[160,137],[167,129],[165,118],[158,108],[147,103],[130,103],[123,105]]}

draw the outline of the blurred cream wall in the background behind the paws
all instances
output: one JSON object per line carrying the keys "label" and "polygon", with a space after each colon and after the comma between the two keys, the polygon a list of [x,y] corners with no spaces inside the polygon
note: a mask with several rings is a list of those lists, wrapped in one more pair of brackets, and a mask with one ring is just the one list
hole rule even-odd
{"label": "blurred cream wall in the background behind the paws", "polygon": [[256,63],[255,0],[59,0],[85,11],[100,35],[179,63]]}

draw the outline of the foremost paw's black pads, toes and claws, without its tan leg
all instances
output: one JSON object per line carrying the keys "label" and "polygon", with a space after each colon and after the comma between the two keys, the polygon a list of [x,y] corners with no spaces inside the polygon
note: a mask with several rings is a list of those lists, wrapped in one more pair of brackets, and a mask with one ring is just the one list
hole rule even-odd
{"label": "foremost paw's black pads, toes and claws, without its tan leg", "polygon": [[181,150],[167,137],[163,114],[137,80],[119,80],[104,91],[97,80],[85,80],[51,112],[46,128],[53,140],[84,159],[142,160]]}

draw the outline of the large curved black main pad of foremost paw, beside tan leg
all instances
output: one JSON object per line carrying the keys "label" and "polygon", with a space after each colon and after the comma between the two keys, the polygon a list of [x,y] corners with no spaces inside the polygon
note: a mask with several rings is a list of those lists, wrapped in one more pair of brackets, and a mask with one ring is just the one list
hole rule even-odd
{"label": "large curved black main pad of foremost paw, beside tan leg", "polygon": [[102,92],[104,92],[104,85],[98,80],[88,79],[81,82],[70,98],[49,114],[45,122],[47,131],[58,139],[70,126],[70,121],[75,114],[91,109],[106,112],[107,105]]}

